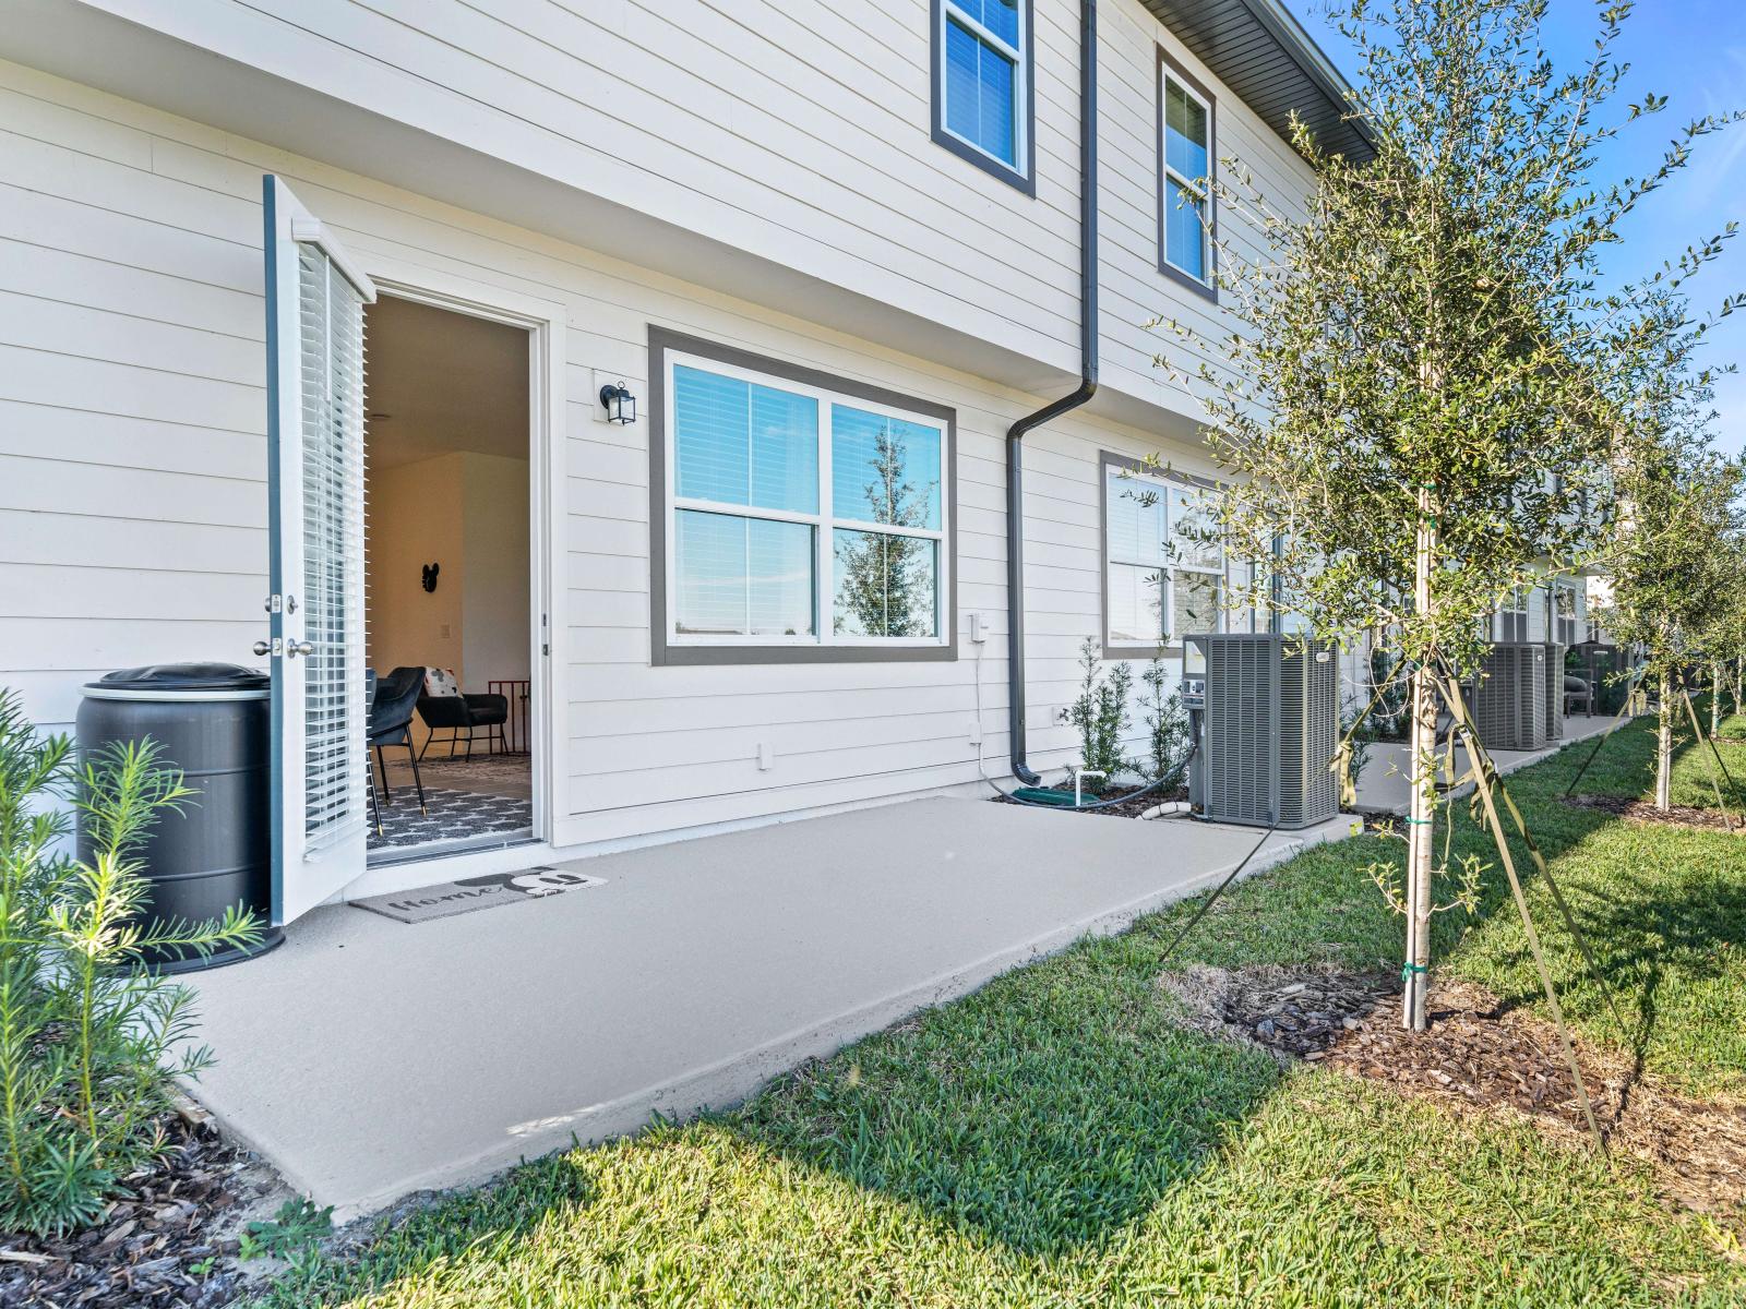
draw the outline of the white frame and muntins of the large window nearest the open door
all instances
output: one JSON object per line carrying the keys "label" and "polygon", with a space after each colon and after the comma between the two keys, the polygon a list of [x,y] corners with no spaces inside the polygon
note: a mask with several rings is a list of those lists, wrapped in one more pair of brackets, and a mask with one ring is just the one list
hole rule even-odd
{"label": "white frame and muntins of the large window nearest the open door", "polygon": [[[946,476],[946,459],[950,459],[952,443],[948,440],[946,424],[931,414],[918,414],[915,410],[899,408],[894,405],[883,405],[873,400],[866,400],[850,391],[835,391],[824,386],[810,386],[807,382],[796,382],[793,379],[782,377],[780,374],[758,372],[756,368],[742,368],[733,363],[725,363],[723,360],[712,360],[707,354],[688,354],[683,351],[669,349],[665,351],[665,393],[674,396],[674,370],[676,368],[695,368],[698,372],[716,374],[718,377],[732,377],[740,382],[749,382],[753,386],[766,386],[775,391],[786,391],[789,394],[807,396],[815,400],[819,405],[819,511],[817,513],[794,513],[791,510],[766,510],[756,504],[730,504],[725,501],[700,499],[695,496],[677,494],[677,471],[679,471],[679,442],[677,442],[677,410],[676,403],[665,405],[665,431],[662,433],[662,442],[665,443],[665,463],[667,463],[667,494],[665,494],[665,538],[667,538],[667,632],[665,642],[670,648],[800,648],[800,649],[819,649],[819,648],[857,648],[857,649],[943,649],[952,642],[952,623],[950,623],[950,595],[952,595],[952,503],[950,503],[950,478]],[[934,494],[939,497],[939,527],[922,529],[922,527],[897,527],[894,524],[875,524],[863,518],[840,518],[836,517],[835,504],[831,503],[831,407],[845,405],[849,408],[857,408],[863,414],[878,414],[880,417],[901,419],[903,422],[915,422],[924,428],[932,428],[939,433],[939,466],[934,469],[938,473],[934,480]],[[679,559],[677,559],[677,536],[679,536],[679,511],[693,510],[700,513],[721,513],[732,518],[763,518],[765,522],[789,522],[805,524],[814,529],[814,572],[812,572],[812,604],[814,604],[814,627],[817,632],[814,635],[737,635],[737,634],[702,634],[702,632],[679,632]],[[883,532],[887,536],[911,536],[934,541],[934,634],[932,637],[856,637],[856,635],[838,635],[833,621],[833,602],[836,597],[836,545],[835,531],[842,527],[843,531],[854,532]]]}

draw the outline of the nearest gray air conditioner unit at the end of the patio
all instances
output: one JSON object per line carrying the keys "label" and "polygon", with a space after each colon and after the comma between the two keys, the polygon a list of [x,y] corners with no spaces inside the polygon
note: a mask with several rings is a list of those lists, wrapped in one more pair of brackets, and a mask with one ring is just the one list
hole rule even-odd
{"label": "nearest gray air conditioner unit at the end of the patio", "polygon": [[1212,822],[1310,827],[1339,813],[1339,658],[1276,634],[1184,637],[1206,658],[1189,794]]}

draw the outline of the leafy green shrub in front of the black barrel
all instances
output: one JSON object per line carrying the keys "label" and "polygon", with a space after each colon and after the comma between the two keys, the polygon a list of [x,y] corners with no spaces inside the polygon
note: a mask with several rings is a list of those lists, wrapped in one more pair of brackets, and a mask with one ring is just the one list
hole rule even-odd
{"label": "leafy green shrub in front of the black barrel", "polygon": [[0,1230],[96,1222],[115,1180],[162,1154],[173,1080],[211,1063],[189,1045],[194,993],[141,967],[260,939],[239,909],[141,920],[140,843],[192,794],[152,744],[75,764],[0,693]]}

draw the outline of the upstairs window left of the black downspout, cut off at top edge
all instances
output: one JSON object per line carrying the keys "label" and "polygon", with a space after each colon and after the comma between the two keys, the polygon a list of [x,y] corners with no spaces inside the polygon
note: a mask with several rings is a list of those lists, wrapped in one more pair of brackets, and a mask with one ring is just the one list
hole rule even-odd
{"label": "upstairs window left of the black downspout, cut off at top edge", "polygon": [[934,0],[934,140],[1035,194],[1030,0]]}

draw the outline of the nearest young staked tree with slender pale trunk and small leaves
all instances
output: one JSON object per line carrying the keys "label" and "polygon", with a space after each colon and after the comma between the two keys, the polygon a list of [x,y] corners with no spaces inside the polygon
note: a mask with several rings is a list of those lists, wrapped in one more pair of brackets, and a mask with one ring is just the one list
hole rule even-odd
{"label": "nearest young staked tree with slender pale trunk and small leaves", "polygon": [[[1397,634],[1413,792],[1402,976],[1406,1023],[1423,1028],[1433,874],[1451,876],[1433,869],[1439,705],[1479,665],[1500,599],[1573,572],[1601,539],[1612,377],[1641,330],[1633,295],[1596,290],[1598,253],[1725,119],[1690,124],[1643,178],[1596,182],[1603,141],[1666,103],[1615,108],[1629,5],[1599,10],[1594,58],[1568,75],[1540,47],[1538,0],[1334,9],[1374,157],[1329,154],[1299,126],[1315,175],[1303,206],[1224,161],[1206,190],[1236,328],[1206,342],[1166,319],[1203,361],[1158,363],[1200,398],[1233,475],[1217,506],[1227,550],[1273,564],[1233,602],[1297,614],[1322,639]],[[1676,283],[1715,246],[1657,278]]]}

